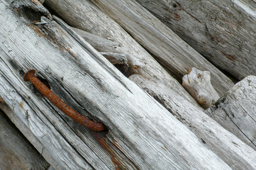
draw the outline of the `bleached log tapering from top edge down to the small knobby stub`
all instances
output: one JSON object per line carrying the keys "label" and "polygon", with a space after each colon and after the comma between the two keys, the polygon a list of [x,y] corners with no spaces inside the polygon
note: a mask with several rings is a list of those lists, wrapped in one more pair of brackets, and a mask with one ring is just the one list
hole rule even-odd
{"label": "bleached log tapering from top edge down to the small knobby stub", "polygon": [[[143,77],[151,79],[152,81],[160,81],[165,84],[167,88],[173,89],[192,103],[197,104],[182,85],[179,84],[176,79],[172,78],[167,71],[126,32],[126,30],[123,30],[123,28],[109,18],[109,16],[106,16],[106,14],[99,10],[98,7],[94,6],[91,1],[47,0],[45,4],[50,6],[50,8],[61,16],[69,26],[86,30],[89,33],[117,42],[121,45],[114,51],[108,51],[115,52],[115,54],[104,53],[104,56],[114,56],[115,61],[128,60],[128,62],[132,64],[129,68],[130,72],[143,75]],[[101,50],[99,51],[101,52]],[[116,51],[125,55],[116,55]],[[121,59],[118,60],[116,57],[121,57]],[[136,82],[136,84],[138,84],[138,82]],[[150,86],[148,86],[148,88],[150,89]]]}

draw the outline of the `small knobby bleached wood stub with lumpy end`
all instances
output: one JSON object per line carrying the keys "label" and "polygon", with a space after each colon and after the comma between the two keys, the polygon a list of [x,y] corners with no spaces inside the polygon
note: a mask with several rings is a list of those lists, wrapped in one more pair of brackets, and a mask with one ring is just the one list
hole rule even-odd
{"label": "small knobby bleached wood stub with lumpy end", "polygon": [[182,77],[182,86],[203,108],[210,108],[220,98],[211,85],[211,73],[192,68]]}

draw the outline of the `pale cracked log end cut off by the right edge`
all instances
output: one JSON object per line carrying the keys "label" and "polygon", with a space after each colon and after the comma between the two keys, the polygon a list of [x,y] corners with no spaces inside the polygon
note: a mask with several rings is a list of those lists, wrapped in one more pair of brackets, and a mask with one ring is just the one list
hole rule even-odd
{"label": "pale cracked log end cut off by the right edge", "polygon": [[206,113],[256,149],[256,77],[245,77]]}

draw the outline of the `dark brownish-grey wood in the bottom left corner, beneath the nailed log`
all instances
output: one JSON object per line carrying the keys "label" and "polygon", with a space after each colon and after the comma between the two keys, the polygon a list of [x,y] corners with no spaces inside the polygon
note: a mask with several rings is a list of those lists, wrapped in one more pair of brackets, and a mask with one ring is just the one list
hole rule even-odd
{"label": "dark brownish-grey wood in the bottom left corner, beneath the nailed log", "polygon": [[[0,108],[11,111],[0,103]],[[0,169],[48,169],[50,164],[40,156],[9,118],[0,110]]]}

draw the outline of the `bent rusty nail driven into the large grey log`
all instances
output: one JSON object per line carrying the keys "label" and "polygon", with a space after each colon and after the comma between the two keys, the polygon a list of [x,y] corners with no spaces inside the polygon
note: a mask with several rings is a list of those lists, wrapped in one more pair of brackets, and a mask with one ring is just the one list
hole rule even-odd
{"label": "bent rusty nail driven into the large grey log", "polygon": [[69,116],[69,118],[72,118],[73,120],[77,121],[77,123],[80,123],[81,125],[84,125],[84,127],[95,130],[95,131],[103,131],[106,130],[106,126],[103,123],[98,123],[93,120],[89,120],[88,118],[84,117],[83,115],[80,115],[74,109],[70,108],[62,99],[60,99],[58,96],[56,96],[50,89],[48,89],[45,84],[43,84],[37,77],[35,77],[35,70],[30,69],[26,74],[24,74],[23,77],[24,81],[30,81],[38,91],[40,91],[43,96],[48,98],[48,100],[54,104],[57,108],[60,109],[63,113]]}

